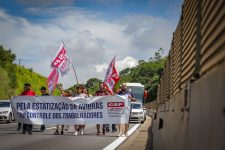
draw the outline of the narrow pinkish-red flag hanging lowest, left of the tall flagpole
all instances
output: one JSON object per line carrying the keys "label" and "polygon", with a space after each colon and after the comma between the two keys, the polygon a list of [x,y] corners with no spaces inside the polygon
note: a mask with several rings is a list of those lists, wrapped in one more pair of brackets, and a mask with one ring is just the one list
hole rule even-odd
{"label": "narrow pinkish-red flag hanging lowest, left of the tall flagpole", "polygon": [[56,88],[56,85],[58,83],[58,79],[59,79],[59,72],[56,68],[54,68],[52,70],[51,74],[48,76],[48,90],[49,90],[50,94]]}

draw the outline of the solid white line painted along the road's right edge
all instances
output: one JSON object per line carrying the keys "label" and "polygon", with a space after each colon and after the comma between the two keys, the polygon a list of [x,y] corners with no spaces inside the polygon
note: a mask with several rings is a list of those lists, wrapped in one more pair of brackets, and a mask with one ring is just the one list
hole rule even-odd
{"label": "solid white line painted along the road's right edge", "polygon": [[[136,124],[133,126],[128,132],[128,137],[140,126],[140,124]],[[114,142],[106,146],[103,150],[112,150],[116,149],[121,143],[123,143],[128,137],[119,137]]]}

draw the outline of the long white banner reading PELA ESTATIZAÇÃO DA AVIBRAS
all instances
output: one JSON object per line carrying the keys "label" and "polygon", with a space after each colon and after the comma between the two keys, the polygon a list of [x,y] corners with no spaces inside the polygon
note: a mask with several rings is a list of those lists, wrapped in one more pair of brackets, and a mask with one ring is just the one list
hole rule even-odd
{"label": "long white banner reading PELA ESTATIZA\u00c7\u00c3O DA AVIBRAS", "polygon": [[129,122],[130,101],[123,96],[90,98],[16,96],[11,100],[16,121],[26,124],[124,124]]}

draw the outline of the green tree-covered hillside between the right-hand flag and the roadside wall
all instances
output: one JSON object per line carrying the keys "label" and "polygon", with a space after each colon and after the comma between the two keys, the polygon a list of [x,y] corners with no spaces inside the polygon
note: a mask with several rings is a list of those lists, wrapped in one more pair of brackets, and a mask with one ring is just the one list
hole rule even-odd
{"label": "green tree-covered hillside between the right-hand flag and the roadside wall", "polygon": [[138,82],[145,86],[149,92],[147,102],[154,101],[157,97],[157,86],[163,72],[166,57],[162,57],[164,50],[160,48],[155,52],[154,58],[148,61],[139,60],[138,66],[120,71],[121,80],[116,88],[124,82]]}

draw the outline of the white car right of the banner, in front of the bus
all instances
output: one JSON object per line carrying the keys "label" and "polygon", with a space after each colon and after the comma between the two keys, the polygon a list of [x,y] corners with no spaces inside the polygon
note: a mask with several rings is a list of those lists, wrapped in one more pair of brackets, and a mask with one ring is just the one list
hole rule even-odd
{"label": "white car right of the banner, in front of the bus", "polygon": [[144,123],[145,112],[140,102],[131,102],[130,122]]}

